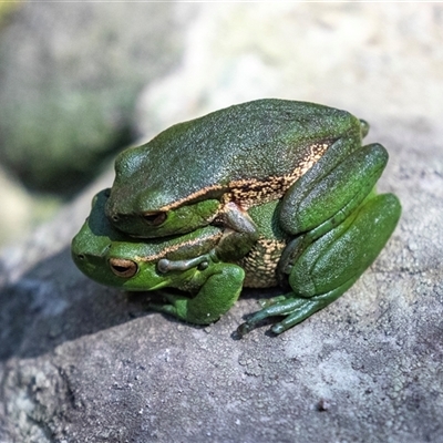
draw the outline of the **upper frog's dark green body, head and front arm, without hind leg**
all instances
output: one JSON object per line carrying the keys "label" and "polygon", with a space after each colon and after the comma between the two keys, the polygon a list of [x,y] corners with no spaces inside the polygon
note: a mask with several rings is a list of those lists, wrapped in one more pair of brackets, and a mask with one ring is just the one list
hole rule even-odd
{"label": "upper frog's dark green body, head and front arm, without hind leg", "polygon": [[106,215],[142,238],[218,224],[230,234],[218,256],[243,257],[258,238],[248,209],[280,199],[323,157],[330,171],[367,131],[350,113],[313,103],[265,99],[219,110],[120,154]]}

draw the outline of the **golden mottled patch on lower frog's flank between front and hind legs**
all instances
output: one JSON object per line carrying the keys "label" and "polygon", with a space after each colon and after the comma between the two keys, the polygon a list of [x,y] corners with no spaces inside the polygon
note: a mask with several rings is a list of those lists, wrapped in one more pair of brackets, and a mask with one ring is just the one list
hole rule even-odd
{"label": "golden mottled patch on lower frog's flank between front and hind legs", "polygon": [[246,272],[244,286],[247,288],[277,286],[277,264],[285,247],[285,241],[259,239],[250,253],[237,262]]}

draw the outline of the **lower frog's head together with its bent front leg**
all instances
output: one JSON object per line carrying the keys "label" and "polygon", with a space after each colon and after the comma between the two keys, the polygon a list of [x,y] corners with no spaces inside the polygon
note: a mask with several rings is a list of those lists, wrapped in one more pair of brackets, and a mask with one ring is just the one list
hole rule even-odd
{"label": "lower frog's head together with its bent front leg", "polygon": [[[196,324],[219,319],[236,302],[245,279],[237,265],[208,254],[222,238],[207,226],[181,237],[136,240],[114,229],[104,214],[109,189],[100,192],[71,245],[72,258],[93,280],[128,291],[162,290],[166,305],[150,305]],[[163,291],[181,289],[183,295]],[[185,296],[188,292],[194,297]]]}

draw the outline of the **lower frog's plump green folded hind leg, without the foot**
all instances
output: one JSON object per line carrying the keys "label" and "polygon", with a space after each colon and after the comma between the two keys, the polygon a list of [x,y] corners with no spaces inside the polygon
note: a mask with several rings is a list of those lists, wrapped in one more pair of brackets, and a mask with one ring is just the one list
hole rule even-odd
{"label": "lower frog's plump green folded hind leg, without the foot", "polygon": [[[343,293],[372,264],[394,230],[400,217],[400,203],[393,194],[377,195],[365,200],[341,225],[330,230],[292,262],[289,285],[302,297]],[[349,284],[350,282],[350,284]]]}

